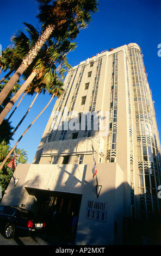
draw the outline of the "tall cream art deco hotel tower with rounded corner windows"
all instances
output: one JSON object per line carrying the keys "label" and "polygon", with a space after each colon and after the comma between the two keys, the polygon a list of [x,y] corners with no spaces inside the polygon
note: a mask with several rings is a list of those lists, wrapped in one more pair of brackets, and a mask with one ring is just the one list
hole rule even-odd
{"label": "tall cream art deco hotel tower with rounded corner windows", "polygon": [[74,66],[33,163],[17,166],[14,203],[48,219],[57,207],[64,234],[76,212],[77,245],[140,243],[156,227],[160,142],[142,56],[131,43]]}

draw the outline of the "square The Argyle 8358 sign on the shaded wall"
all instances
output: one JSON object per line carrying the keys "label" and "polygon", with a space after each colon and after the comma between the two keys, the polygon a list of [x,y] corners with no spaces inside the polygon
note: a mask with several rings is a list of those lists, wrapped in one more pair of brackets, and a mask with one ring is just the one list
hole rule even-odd
{"label": "square The Argyle 8358 sign on the shaded wall", "polygon": [[107,203],[88,200],[85,218],[106,222]]}

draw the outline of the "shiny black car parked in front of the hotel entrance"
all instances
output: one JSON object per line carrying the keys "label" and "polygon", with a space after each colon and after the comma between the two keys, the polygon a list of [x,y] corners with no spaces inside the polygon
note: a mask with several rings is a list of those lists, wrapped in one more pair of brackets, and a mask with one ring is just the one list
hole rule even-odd
{"label": "shiny black car parked in front of the hotel entrance", "polygon": [[0,229],[6,239],[21,232],[24,235],[38,234],[45,222],[36,221],[32,211],[17,206],[0,205]]}

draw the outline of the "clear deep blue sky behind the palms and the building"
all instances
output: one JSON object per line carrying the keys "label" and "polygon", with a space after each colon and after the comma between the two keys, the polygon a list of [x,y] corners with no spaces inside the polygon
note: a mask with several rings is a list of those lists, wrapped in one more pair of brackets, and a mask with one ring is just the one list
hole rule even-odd
{"label": "clear deep blue sky behind the palms and the building", "polygon": [[[37,13],[38,3],[34,0],[1,0],[0,44],[2,49],[11,44],[11,36],[17,29],[24,29],[22,22],[28,22],[34,26],[38,25],[38,20],[35,17]],[[159,50],[157,47],[161,44],[160,14],[160,0],[99,0],[98,13],[92,15],[92,22],[88,28],[80,31],[75,40],[78,46],[75,51],[68,55],[68,59],[69,63],[75,66],[82,60],[95,56],[104,50],[136,42],[144,54],[147,79],[152,90],[158,130],[161,134],[161,57],[157,54]],[[49,98],[48,95],[39,95],[33,109],[23,122],[24,124],[17,130],[11,146],[16,143],[21,133],[44,108]],[[32,100],[33,97],[26,97],[21,103],[21,107],[17,109],[12,119],[14,127],[27,111]],[[18,148],[27,151],[29,162],[33,161],[54,102],[55,100],[18,143]]]}

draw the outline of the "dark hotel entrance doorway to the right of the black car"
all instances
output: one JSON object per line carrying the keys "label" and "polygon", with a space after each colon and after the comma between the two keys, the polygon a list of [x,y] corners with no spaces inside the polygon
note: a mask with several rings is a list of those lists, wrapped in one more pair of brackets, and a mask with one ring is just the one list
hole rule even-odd
{"label": "dark hotel entrance doorway to the right of the black car", "polygon": [[38,217],[43,217],[50,235],[70,236],[73,216],[79,216],[82,195],[54,193],[37,197]]}

